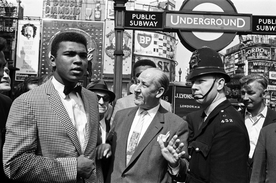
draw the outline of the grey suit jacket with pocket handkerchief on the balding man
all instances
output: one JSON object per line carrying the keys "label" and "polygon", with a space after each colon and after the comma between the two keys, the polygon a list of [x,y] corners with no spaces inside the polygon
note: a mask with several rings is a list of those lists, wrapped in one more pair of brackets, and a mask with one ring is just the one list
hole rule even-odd
{"label": "grey suit jacket with pocket handkerchief on the balding man", "polygon": [[[165,146],[177,135],[184,143],[187,152],[188,125],[177,115],[168,112],[161,105],[137,145],[129,164],[126,166],[127,140],[138,106],[119,110],[108,134],[106,143],[112,146],[112,156],[106,182],[172,182],[168,173],[168,163],[162,156],[157,137],[159,134],[170,136]],[[186,157],[188,154],[186,154]],[[188,162],[181,159],[181,176],[185,177]]]}

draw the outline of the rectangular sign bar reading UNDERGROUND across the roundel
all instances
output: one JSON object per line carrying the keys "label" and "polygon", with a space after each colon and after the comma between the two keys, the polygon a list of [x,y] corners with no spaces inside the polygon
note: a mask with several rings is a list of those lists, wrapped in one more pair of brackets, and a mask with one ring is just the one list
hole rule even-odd
{"label": "rectangular sign bar reading UNDERGROUND across the roundel", "polygon": [[251,32],[250,14],[164,12],[165,29]]}

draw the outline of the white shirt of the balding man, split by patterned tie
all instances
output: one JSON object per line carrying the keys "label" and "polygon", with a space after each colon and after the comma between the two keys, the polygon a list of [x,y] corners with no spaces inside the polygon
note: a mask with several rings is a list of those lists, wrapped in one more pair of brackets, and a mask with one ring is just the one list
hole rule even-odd
{"label": "white shirt of the balding man, split by patterned tie", "polygon": [[[142,127],[142,130],[141,130],[141,134],[140,134],[138,142],[137,142],[137,146],[138,146],[141,138],[145,134],[147,128],[150,126],[150,123],[152,122],[154,116],[156,115],[156,113],[157,113],[157,111],[159,109],[159,106],[160,106],[160,103],[156,107],[147,110],[147,114],[144,117],[144,123],[143,123],[143,127]],[[136,125],[138,123],[138,120],[140,118],[140,115],[138,115],[138,114],[140,114],[143,110],[144,110],[143,108],[139,107],[138,110],[137,110],[137,112],[136,112],[136,114],[135,114],[135,117],[134,117],[132,125],[131,125],[131,129],[129,131],[129,137],[127,139],[127,150],[129,148],[129,141],[131,139],[133,130],[135,129],[135,127],[136,127]]]}

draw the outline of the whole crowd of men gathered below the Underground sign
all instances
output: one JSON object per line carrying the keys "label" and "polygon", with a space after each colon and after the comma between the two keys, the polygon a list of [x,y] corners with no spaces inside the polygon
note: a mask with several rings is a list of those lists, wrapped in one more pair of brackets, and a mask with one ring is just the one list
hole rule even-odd
{"label": "whole crowd of men gathered below the Underground sign", "polygon": [[[187,79],[202,109],[184,121],[161,100],[168,77],[151,60],[139,60],[134,94],[117,100],[111,117],[115,94],[104,80],[77,85],[86,45],[81,34],[56,35],[53,73],[13,102],[0,94],[3,181],[276,182],[276,111],[264,103],[264,77],[239,80],[245,108],[237,111],[225,97],[231,78],[221,57],[197,49]],[[4,46],[0,38],[0,92],[10,90]]]}

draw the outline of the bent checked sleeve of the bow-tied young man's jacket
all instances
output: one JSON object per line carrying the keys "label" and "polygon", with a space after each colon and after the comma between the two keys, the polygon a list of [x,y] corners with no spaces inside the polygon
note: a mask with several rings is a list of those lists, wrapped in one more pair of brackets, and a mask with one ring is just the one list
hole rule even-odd
{"label": "bent checked sleeve of the bow-tied young man's jacket", "polygon": [[76,157],[37,156],[39,134],[28,102],[17,98],[7,120],[3,165],[7,177],[22,182],[76,182]]}

